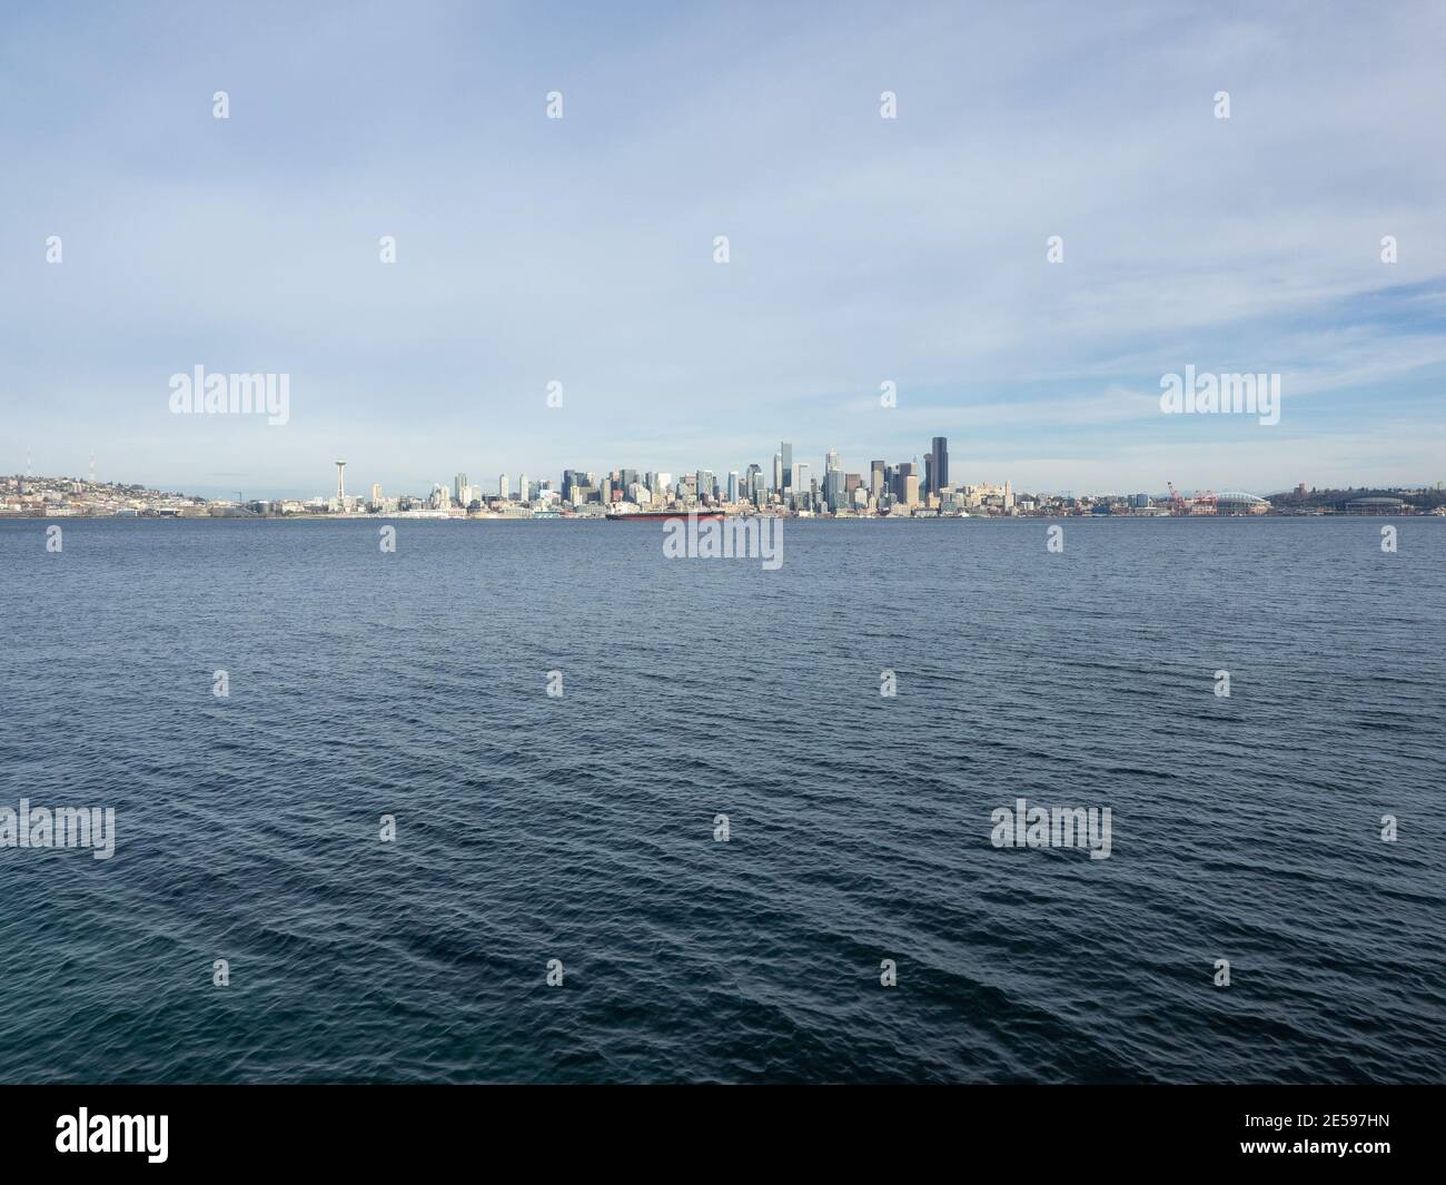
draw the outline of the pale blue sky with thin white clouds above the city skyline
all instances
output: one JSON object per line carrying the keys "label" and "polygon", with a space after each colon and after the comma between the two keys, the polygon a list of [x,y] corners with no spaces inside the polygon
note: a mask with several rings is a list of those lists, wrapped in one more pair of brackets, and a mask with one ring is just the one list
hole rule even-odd
{"label": "pale blue sky with thin white clouds above the city skyline", "polygon": [[[490,490],[946,436],[1017,490],[1434,483],[1443,43],[1439,3],[4,6],[0,472]],[[288,422],[172,414],[197,366],[288,375]],[[1280,422],[1163,414],[1186,366],[1278,373]]]}

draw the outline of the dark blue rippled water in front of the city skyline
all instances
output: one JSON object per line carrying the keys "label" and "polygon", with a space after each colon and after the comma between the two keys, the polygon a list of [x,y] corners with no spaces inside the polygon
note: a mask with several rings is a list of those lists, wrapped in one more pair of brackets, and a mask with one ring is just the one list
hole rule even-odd
{"label": "dark blue rippled water in front of the city skyline", "polygon": [[3,1081],[1446,1076],[1446,519],[45,525],[0,806],[117,849],[0,849]]}

